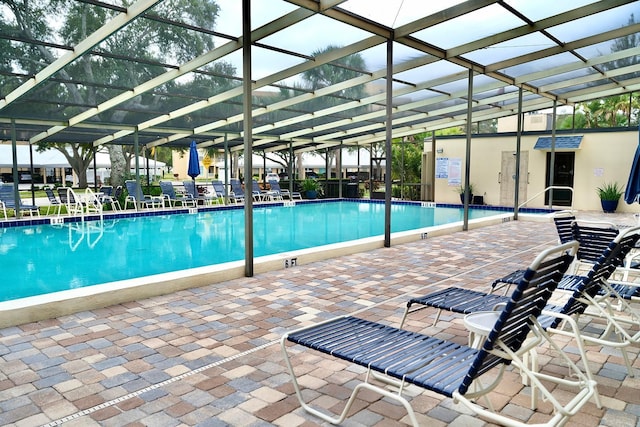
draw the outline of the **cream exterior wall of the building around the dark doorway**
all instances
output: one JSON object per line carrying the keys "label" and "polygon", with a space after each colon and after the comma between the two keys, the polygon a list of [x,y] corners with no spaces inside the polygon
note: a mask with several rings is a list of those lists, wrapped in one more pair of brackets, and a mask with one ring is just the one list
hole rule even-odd
{"label": "cream exterior wall of the building around the dark doorway", "polygon": [[[528,155],[528,178],[526,199],[543,193],[546,182],[546,153],[534,150],[533,147],[540,136],[523,135],[521,150]],[[575,150],[574,197],[573,207],[578,210],[601,211],[600,199],[596,187],[605,182],[617,181],[626,187],[636,147],[638,146],[638,130],[626,132],[576,132],[557,136],[582,136],[580,148]],[[431,143],[425,144],[425,150],[431,151]],[[516,136],[474,137],[471,139],[470,181],[475,187],[474,195],[483,196],[488,205],[500,205],[500,176],[502,152],[516,151]],[[436,139],[436,169],[438,159],[448,159],[448,163],[460,160],[461,182],[464,183],[466,138]],[[446,162],[440,162],[442,166]],[[515,185],[513,185],[515,187]],[[460,203],[457,185],[449,178],[435,179],[435,201],[438,203]],[[519,203],[526,200],[522,196]],[[507,206],[513,206],[513,201]],[[541,194],[528,207],[546,207],[544,195]],[[557,207],[557,206],[556,206]],[[618,203],[617,212],[640,212],[640,205],[627,205],[624,198]]]}

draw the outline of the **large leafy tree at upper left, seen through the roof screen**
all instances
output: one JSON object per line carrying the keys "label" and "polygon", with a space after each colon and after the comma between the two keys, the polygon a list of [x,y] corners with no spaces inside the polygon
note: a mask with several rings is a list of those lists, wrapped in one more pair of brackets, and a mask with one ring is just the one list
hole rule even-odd
{"label": "large leafy tree at upper left, seen through the roof screen", "polygon": [[[117,12],[93,6],[89,2],[72,0],[0,0],[11,14],[0,15],[0,30],[13,37],[32,43],[0,42],[0,58],[16,58],[15,63],[0,59],[0,68],[12,73],[2,73],[0,86],[7,93],[18,87],[26,77],[35,75],[46,65],[57,59],[56,50],[47,47],[64,45],[71,48],[108,22]],[[66,117],[94,107],[113,97],[123,88],[131,88],[163,73],[163,64],[184,63],[187,60],[213,49],[213,37],[189,27],[212,29],[219,8],[213,0],[165,0],[146,18],[138,18],[105,39],[94,48],[92,54],[77,59],[57,73],[55,78],[41,84],[33,95],[41,100],[58,100],[50,104],[39,104],[38,115],[55,116],[63,111]],[[162,19],[154,19],[161,17]],[[185,25],[169,25],[167,21]],[[48,25],[57,22],[60,25]],[[45,43],[40,43],[40,42]],[[169,82],[155,91],[143,93],[117,108],[100,113],[99,119],[111,123],[136,123],[142,121],[147,112],[157,111],[162,102],[165,106],[182,106],[180,97],[166,94],[180,93],[202,96],[202,88],[209,93],[220,86],[231,84],[220,75],[232,75],[234,69],[227,63],[215,63],[198,70],[189,81]],[[79,84],[82,82],[82,84]],[[207,93],[207,92],[204,92]],[[199,98],[200,99],[200,98]],[[24,109],[26,117],[33,117],[29,105],[18,105],[15,112]],[[54,116],[53,114],[51,114]],[[105,117],[106,116],[106,117]],[[68,141],[74,143],[75,141]],[[43,142],[39,149],[55,148],[68,154],[67,143]],[[129,173],[128,162],[122,146],[108,145],[111,158],[111,181],[121,185]],[[65,156],[67,156],[65,154]],[[80,185],[86,186],[86,167],[93,156],[92,150],[83,147],[71,151],[70,164],[80,177]],[[76,158],[77,157],[77,158]],[[80,168],[80,169],[77,169]]]}

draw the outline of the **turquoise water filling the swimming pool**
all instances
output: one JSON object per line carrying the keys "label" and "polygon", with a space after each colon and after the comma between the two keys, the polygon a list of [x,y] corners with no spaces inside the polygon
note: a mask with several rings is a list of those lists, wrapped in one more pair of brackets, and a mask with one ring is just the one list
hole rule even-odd
{"label": "turquoise water filling the swimming pool", "polygon": [[[256,257],[384,234],[381,203],[256,207],[253,217]],[[391,231],[462,219],[462,209],[394,204]],[[242,209],[3,228],[0,301],[242,259]]]}

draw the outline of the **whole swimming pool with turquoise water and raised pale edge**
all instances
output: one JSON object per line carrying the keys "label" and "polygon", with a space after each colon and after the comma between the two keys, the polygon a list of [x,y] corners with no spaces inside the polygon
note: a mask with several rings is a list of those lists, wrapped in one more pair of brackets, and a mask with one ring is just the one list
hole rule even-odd
{"label": "whole swimming pool with turquoise water and raised pale edge", "polygon": [[[105,215],[0,228],[0,327],[176,292],[242,277],[244,211]],[[470,210],[481,226],[509,212]],[[394,203],[392,244],[462,229],[460,208]],[[256,205],[254,272],[269,271],[383,246],[384,203],[323,201]],[[40,222],[40,224],[37,224]],[[292,273],[295,274],[295,273]]]}

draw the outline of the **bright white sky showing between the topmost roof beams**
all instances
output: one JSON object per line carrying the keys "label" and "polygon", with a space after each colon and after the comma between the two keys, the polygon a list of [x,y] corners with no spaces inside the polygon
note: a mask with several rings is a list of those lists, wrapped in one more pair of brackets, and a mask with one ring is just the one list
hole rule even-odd
{"label": "bright white sky showing between the topmost roof beams", "polygon": [[[215,30],[236,37],[241,36],[242,2],[240,0],[216,1],[221,8],[221,12]],[[350,11],[357,11],[357,13],[373,21],[397,28],[413,21],[417,16],[433,14],[462,2],[463,0],[439,0],[437,2],[425,0],[348,0],[340,4],[340,7]],[[566,11],[569,8],[580,7],[592,2],[594,0],[573,0],[570,4],[548,1],[544,2],[544,10],[541,10],[537,4],[538,2],[506,0],[506,3],[524,11],[532,19],[541,19]],[[297,9],[297,6],[284,0],[253,0],[251,9],[252,28],[255,29]],[[505,13],[504,8],[501,6],[490,5],[477,13],[456,18],[453,22],[428,28],[415,35],[424,40],[434,40],[435,44],[441,47],[450,48],[523,24],[524,21]],[[465,31],[459,31],[460,28],[465,28]],[[578,28],[580,28],[579,25]],[[446,33],[445,37],[443,37],[443,32]],[[261,42],[289,51],[311,55],[314,51],[323,49],[330,44],[346,46],[369,36],[369,33],[357,28],[321,15],[314,15],[302,23],[261,40]],[[535,36],[531,36],[526,40],[526,43],[531,43],[529,47],[531,50],[539,50],[551,45],[551,42],[542,36],[538,36],[535,40],[534,38]],[[221,46],[225,42],[226,40],[224,39],[216,40],[216,46]],[[524,40],[520,41],[520,43],[524,42]],[[540,43],[547,43],[549,46]],[[522,53],[522,49],[523,46],[509,46],[509,43],[504,43],[499,48],[491,51],[490,54],[502,59],[500,55],[510,57],[513,54],[511,50]],[[476,54],[484,56],[486,53],[477,52]],[[370,71],[384,68],[386,62],[384,44],[363,51],[361,54]],[[407,57],[418,55],[421,55],[421,53],[399,43],[394,45],[394,58],[404,57],[406,59]],[[256,47],[252,49],[252,56],[252,78],[254,80],[269,76],[303,61],[298,57]],[[473,60],[474,58],[470,59]],[[240,51],[228,55],[224,60],[231,62],[238,70],[238,74],[242,74],[242,54]],[[396,60],[396,62],[398,61]],[[290,78],[285,82],[292,83],[294,80]]]}

